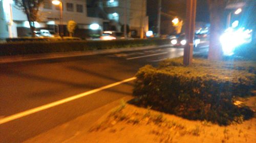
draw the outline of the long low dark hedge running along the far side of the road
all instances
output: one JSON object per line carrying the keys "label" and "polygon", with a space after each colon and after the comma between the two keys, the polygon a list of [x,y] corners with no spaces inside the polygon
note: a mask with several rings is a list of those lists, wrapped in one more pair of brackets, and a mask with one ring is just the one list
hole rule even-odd
{"label": "long low dark hedge running along the far side of the road", "polygon": [[168,39],[136,39],[112,41],[26,41],[0,44],[0,55],[34,54],[49,52],[86,51],[126,48],[169,43]]}

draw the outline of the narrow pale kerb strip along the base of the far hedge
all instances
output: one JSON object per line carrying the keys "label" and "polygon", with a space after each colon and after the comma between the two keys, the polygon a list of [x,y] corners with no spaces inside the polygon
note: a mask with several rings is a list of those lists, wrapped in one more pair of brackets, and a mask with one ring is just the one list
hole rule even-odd
{"label": "narrow pale kerb strip along the base of the far hedge", "polygon": [[155,48],[163,48],[166,46],[169,46],[169,45],[160,45],[160,46],[152,45],[152,46],[118,48],[118,49],[103,49],[103,50],[90,50],[90,51],[55,52],[55,53],[0,56],[0,64],[25,62],[25,61],[36,61],[36,60],[45,60],[45,59],[68,58],[68,57],[73,57],[73,56],[116,53],[116,52],[123,52],[123,51],[155,49]]}

